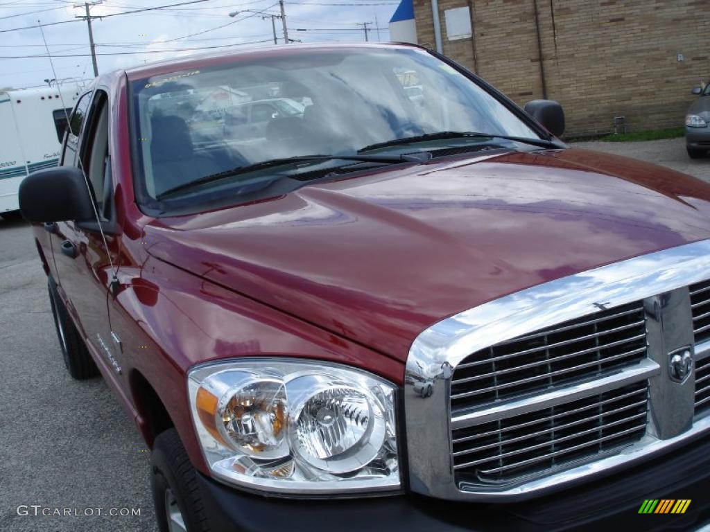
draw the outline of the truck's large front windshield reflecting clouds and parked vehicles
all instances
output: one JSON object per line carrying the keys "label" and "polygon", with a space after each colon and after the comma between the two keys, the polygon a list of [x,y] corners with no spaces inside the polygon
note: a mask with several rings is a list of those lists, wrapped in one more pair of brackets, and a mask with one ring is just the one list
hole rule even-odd
{"label": "truck's large front windshield reflecting clouds and parked vehicles", "polygon": [[[229,65],[138,79],[131,89],[138,130],[133,135],[140,166],[137,189],[148,200],[273,159],[351,155],[442,131],[540,139],[478,84],[416,49],[339,48],[242,57]],[[417,149],[429,148],[391,145],[377,153]],[[296,170],[292,165],[283,171]],[[274,172],[273,167],[262,172],[264,179]],[[241,173],[234,179],[247,178],[254,176]],[[185,194],[229,187],[233,181],[219,179],[195,191],[185,189]]]}

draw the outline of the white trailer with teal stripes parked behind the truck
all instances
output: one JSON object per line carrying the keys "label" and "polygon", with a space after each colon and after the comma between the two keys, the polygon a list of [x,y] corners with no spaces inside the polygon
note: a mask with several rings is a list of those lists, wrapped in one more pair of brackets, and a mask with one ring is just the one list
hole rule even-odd
{"label": "white trailer with teal stripes parked behind the truck", "polygon": [[76,82],[0,92],[0,215],[19,209],[17,191],[28,174],[58,164],[67,124],[62,98],[71,113],[80,94]]}

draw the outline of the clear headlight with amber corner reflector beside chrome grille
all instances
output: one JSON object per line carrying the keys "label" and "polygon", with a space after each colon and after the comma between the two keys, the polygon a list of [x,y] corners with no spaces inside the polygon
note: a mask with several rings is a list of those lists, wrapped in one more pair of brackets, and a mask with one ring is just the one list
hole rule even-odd
{"label": "clear headlight with amber corner reflector beside chrome grille", "polygon": [[260,358],[197,367],[187,383],[215,477],[304,495],[400,487],[395,387],[379,377]]}

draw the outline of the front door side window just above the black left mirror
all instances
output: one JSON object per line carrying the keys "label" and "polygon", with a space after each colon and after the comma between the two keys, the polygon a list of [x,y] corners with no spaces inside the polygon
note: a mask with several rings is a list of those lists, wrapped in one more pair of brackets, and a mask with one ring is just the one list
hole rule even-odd
{"label": "front door side window just above the black left mirror", "polygon": [[89,179],[91,194],[102,218],[109,218],[111,174],[109,155],[109,106],[105,92],[97,90],[89,109],[79,156]]}

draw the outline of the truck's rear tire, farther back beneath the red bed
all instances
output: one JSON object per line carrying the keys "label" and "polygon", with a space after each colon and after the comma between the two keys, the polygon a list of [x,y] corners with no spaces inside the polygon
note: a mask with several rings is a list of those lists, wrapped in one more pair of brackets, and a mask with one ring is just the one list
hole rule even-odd
{"label": "truck's rear tire, farther back beneath the red bed", "polygon": [[69,316],[62,299],[57,292],[57,284],[52,277],[48,280],[49,301],[54,316],[54,326],[57,329],[59,346],[64,356],[64,365],[72,379],[84,380],[99,375],[99,368],[89,355],[84,340]]}

